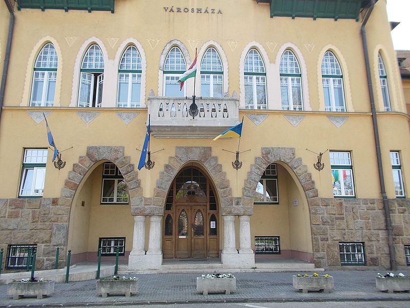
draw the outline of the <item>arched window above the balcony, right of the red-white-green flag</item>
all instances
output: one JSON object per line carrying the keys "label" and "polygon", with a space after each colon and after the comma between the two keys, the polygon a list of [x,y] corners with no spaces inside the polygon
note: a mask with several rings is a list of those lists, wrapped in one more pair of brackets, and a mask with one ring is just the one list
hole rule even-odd
{"label": "arched window above the balcony, right of the red-white-green flag", "polygon": [[215,48],[208,48],[201,63],[201,96],[221,98],[223,95],[223,68]]}

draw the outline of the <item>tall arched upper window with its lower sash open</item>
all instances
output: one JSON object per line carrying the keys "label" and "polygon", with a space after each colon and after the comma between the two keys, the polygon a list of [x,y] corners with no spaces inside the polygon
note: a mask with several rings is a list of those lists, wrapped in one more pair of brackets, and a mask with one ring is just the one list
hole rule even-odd
{"label": "tall arched upper window with its lower sash open", "polygon": [[81,62],[78,107],[101,107],[103,103],[104,57],[98,45],[88,48]]}

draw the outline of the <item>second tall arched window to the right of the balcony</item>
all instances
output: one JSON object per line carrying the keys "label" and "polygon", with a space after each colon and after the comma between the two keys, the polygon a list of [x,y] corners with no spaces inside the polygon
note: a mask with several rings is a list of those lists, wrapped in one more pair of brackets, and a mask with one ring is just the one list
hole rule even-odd
{"label": "second tall arched window to the right of the balcony", "polygon": [[291,50],[283,52],[279,73],[282,110],[303,110],[302,75],[298,60]]}

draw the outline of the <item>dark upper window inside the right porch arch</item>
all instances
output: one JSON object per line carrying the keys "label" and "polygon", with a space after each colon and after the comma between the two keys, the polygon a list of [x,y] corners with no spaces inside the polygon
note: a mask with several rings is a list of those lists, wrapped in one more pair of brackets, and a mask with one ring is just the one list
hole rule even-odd
{"label": "dark upper window inside the right porch arch", "polygon": [[270,164],[263,172],[256,186],[255,203],[279,203],[278,197],[278,175],[276,164]]}

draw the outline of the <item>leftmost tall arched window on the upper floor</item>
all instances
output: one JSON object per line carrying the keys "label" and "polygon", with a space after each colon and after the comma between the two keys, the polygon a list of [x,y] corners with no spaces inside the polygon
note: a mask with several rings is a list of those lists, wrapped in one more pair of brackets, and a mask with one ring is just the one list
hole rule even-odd
{"label": "leftmost tall arched window on the upper floor", "polygon": [[53,106],[56,78],[57,53],[53,44],[47,43],[38,53],[34,64],[30,106]]}

